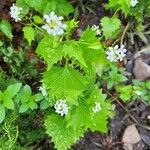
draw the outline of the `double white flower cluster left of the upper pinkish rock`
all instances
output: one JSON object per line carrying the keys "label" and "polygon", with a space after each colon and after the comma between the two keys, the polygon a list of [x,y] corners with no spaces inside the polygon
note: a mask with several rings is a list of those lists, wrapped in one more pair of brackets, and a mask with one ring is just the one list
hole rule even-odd
{"label": "double white flower cluster left of the upper pinkish rock", "polygon": [[127,50],[125,49],[124,45],[121,45],[120,48],[118,45],[116,45],[115,47],[109,47],[108,51],[106,51],[107,59],[110,62],[116,62],[117,60],[122,61],[123,58],[126,56],[126,52]]}

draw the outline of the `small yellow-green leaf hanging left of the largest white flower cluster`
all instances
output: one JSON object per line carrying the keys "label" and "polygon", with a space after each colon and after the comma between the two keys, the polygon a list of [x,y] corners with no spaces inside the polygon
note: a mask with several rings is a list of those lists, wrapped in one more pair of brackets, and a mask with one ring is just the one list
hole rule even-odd
{"label": "small yellow-green leaf hanging left of the largest white flower cluster", "polygon": [[23,32],[24,32],[24,38],[26,38],[29,45],[31,45],[31,42],[34,40],[34,36],[35,36],[34,29],[30,26],[25,26],[23,27]]}

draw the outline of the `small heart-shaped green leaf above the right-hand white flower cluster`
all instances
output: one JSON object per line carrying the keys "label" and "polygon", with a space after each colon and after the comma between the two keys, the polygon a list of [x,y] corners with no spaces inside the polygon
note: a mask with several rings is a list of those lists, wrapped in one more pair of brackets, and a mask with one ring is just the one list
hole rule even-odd
{"label": "small heart-shaped green leaf above the right-hand white flower cluster", "polygon": [[116,17],[109,18],[105,16],[101,19],[101,26],[106,39],[116,38],[121,26],[121,21]]}

